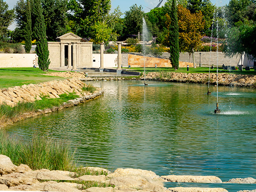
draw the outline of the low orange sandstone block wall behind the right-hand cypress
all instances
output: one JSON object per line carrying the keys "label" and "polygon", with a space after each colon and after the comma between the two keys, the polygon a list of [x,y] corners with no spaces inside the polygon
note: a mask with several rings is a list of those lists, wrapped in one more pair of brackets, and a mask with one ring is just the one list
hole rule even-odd
{"label": "low orange sandstone block wall behind the right-hand cypress", "polygon": [[[128,64],[131,67],[144,67],[144,56],[128,54]],[[172,67],[169,59],[147,57],[145,56],[145,67]],[[179,67],[194,67],[193,63],[179,61]]]}

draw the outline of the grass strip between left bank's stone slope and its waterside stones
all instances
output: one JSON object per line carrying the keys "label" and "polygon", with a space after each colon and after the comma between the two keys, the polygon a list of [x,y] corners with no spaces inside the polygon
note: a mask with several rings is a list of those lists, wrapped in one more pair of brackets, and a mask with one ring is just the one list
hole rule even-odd
{"label": "grass strip between left bank's stone slope and its waterside stones", "polygon": [[0,105],[0,122],[6,122],[8,119],[15,118],[23,113],[37,111],[38,109],[44,110],[58,107],[64,102],[76,99],[79,96],[75,93],[64,93],[59,95],[59,97],[60,98],[47,98],[47,96],[42,96],[42,100],[36,100],[35,102],[19,102],[13,108],[5,104]]}

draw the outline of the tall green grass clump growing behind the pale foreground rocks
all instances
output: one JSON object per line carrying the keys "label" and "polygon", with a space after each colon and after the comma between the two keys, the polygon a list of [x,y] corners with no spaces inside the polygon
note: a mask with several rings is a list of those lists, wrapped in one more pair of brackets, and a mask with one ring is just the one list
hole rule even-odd
{"label": "tall green grass clump growing behind the pale foreground rocks", "polygon": [[10,157],[17,166],[23,163],[31,169],[74,170],[76,161],[70,151],[69,143],[40,136],[23,142],[9,138],[5,131],[0,130],[0,154]]}

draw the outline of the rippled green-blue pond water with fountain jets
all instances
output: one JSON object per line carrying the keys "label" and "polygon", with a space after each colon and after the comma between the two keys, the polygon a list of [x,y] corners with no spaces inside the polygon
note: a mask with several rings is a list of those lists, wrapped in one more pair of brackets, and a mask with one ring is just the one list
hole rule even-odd
{"label": "rippled green-blue pond water with fountain jets", "polygon": [[[256,90],[219,87],[221,114],[214,114],[216,87],[207,96],[206,85],[143,83],[94,81],[105,91],[101,98],[24,120],[9,134],[70,140],[82,165],[215,175],[222,181],[256,178]],[[167,184],[173,185],[187,184]]]}

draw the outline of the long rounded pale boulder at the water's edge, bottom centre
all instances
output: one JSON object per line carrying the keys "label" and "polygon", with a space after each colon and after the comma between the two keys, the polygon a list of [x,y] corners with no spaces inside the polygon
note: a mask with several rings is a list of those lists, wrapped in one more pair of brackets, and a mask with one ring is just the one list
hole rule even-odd
{"label": "long rounded pale boulder at the water's edge, bottom centre", "polygon": [[113,173],[107,175],[107,178],[114,178],[114,177],[120,177],[125,175],[134,175],[134,176],[142,176],[142,177],[149,177],[151,179],[160,179],[160,176],[156,175],[152,171],[142,170],[142,169],[116,169]]}

